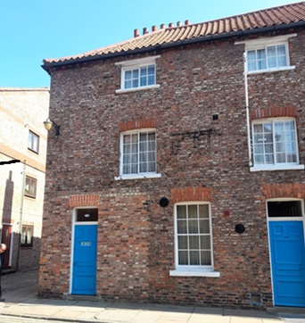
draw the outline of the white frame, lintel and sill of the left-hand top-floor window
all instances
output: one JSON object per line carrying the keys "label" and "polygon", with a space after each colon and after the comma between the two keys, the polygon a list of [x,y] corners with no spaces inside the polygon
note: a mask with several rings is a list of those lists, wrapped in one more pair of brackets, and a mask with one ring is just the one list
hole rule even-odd
{"label": "white frame, lintel and sill of the left-hand top-floor window", "polygon": [[[130,60],[130,61],[124,61],[124,62],[116,62],[115,65],[119,65],[121,67],[120,72],[120,89],[116,90],[116,93],[124,93],[124,92],[133,92],[133,91],[139,91],[144,89],[150,89],[150,88],[156,88],[160,87],[159,84],[157,84],[157,64],[156,59],[160,58],[160,55],[151,56],[151,57],[144,57],[136,60]],[[140,85],[140,69],[143,67],[148,67],[150,65],[154,66],[154,84],[152,85]],[[125,77],[126,72],[128,70],[138,70],[138,86],[137,87],[125,87]]]}

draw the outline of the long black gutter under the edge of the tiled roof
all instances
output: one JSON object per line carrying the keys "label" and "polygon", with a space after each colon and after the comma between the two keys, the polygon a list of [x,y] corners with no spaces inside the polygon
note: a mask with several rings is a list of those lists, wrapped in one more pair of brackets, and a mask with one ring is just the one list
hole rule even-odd
{"label": "long black gutter under the edge of the tiled roof", "polygon": [[298,22],[293,22],[290,24],[265,27],[262,29],[241,30],[241,31],[236,31],[236,32],[232,32],[232,33],[227,33],[227,34],[216,34],[216,35],[211,35],[211,36],[206,36],[206,37],[185,39],[185,40],[181,40],[181,41],[178,41],[175,43],[166,43],[166,44],[161,44],[161,45],[157,45],[157,46],[144,47],[144,48],[140,48],[140,49],[124,51],[124,52],[119,52],[119,53],[98,54],[95,56],[88,56],[88,57],[65,60],[63,62],[50,62],[50,63],[46,62],[43,65],[41,65],[41,67],[45,71],[49,72],[51,69],[56,68],[56,67],[61,67],[61,66],[66,66],[66,65],[75,65],[78,63],[82,63],[82,62],[100,61],[103,59],[125,56],[127,54],[151,53],[151,52],[155,52],[155,51],[160,51],[161,49],[175,48],[178,46],[186,46],[186,45],[194,45],[194,44],[204,43],[204,42],[208,42],[208,41],[212,41],[212,40],[229,39],[232,37],[244,37],[244,36],[250,36],[250,35],[257,35],[257,34],[267,33],[269,31],[284,30],[284,29],[298,28],[298,27],[304,27],[304,26],[305,26],[305,21],[298,21]]}

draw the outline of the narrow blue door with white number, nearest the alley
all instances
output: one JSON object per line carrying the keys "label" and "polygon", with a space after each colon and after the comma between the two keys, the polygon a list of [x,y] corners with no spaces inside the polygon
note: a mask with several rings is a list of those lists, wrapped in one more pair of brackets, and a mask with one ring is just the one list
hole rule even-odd
{"label": "narrow blue door with white number, nearest the alley", "polygon": [[77,225],[74,230],[71,294],[96,294],[97,225]]}

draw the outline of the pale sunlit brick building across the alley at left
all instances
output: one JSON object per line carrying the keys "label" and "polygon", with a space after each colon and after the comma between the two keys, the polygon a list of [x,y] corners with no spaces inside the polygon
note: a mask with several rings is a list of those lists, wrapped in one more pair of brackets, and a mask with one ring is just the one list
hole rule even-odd
{"label": "pale sunlit brick building across the alley at left", "polygon": [[[0,236],[5,270],[38,269],[48,88],[0,88]],[[18,162],[19,161],[19,162]]]}

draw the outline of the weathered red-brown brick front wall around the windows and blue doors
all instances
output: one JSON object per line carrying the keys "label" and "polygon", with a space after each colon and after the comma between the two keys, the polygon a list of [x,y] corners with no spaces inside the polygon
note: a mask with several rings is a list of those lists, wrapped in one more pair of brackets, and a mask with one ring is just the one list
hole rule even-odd
{"label": "weathered red-brown brick front wall around the windows and blue doors", "polygon": [[[291,39],[295,70],[248,78],[251,118],[273,116],[270,107],[296,115],[301,163],[304,38],[298,31]],[[52,70],[50,116],[61,125],[61,137],[49,136],[39,294],[69,293],[71,214],[81,206],[73,196],[88,195],[98,196],[102,299],[249,307],[250,293],[261,293],[263,305],[272,306],[266,199],[273,186],[304,183],[304,171],[249,170],[243,46],[215,41],[155,54],[161,54],[161,87],[144,91],[115,93],[120,67],[114,63],[123,58]],[[142,127],[156,128],[161,178],[114,180],[120,131]],[[288,196],[288,190],[281,192]],[[163,196],[169,198],[165,208]],[[174,203],[183,200],[211,203],[218,278],[169,277]],[[242,235],[237,223],[246,228]]]}

